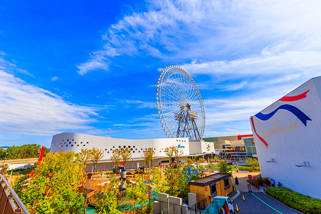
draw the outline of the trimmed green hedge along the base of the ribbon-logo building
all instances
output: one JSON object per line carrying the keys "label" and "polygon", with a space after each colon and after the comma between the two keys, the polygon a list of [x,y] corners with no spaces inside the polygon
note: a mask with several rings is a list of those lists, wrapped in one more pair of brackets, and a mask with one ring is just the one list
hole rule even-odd
{"label": "trimmed green hedge along the base of the ribbon-logo building", "polygon": [[312,198],[284,187],[268,187],[265,193],[300,212],[321,213],[321,199]]}

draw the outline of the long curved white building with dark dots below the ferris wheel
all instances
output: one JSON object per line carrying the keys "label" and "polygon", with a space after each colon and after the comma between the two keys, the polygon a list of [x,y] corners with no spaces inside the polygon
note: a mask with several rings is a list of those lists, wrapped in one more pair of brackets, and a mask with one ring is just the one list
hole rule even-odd
{"label": "long curved white building with dark dots below the ferris wheel", "polygon": [[[203,140],[189,140],[188,138],[159,138],[159,139],[143,139],[143,140],[127,140],[116,139],[111,137],[100,137],[88,134],[79,134],[72,132],[63,132],[54,135],[50,147],[50,152],[60,152],[62,150],[75,153],[80,152],[82,148],[92,149],[98,148],[104,151],[104,157],[98,162],[97,168],[111,169],[113,167],[110,161],[112,155],[112,149],[115,148],[130,148],[132,151],[132,157],[127,162],[126,168],[135,168],[137,162],[140,165],[142,163],[143,150],[148,147],[152,147],[155,150],[157,156],[154,166],[159,163],[169,162],[169,159],[165,153],[165,148],[169,146],[178,146],[183,151],[181,161],[185,162],[186,158],[191,155],[202,155],[204,153],[213,153],[214,143],[205,142]],[[90,171],[91,165],[88,165],[86,170]]]}

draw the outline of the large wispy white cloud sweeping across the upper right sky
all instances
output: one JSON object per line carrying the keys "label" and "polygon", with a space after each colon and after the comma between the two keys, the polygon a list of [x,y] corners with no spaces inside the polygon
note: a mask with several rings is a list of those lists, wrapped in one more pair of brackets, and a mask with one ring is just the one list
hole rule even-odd
{"label": "large wispy white cloud sweeping across the upper right sky", "polygon": [[[205,135],[250,133],[249,116],[321,75],[320,6],[310,0],[147,1],[146,12],[107,28],[102,48],[78,73],[108,70],[125,55],[181,62],[207,95]],[[219,98],[212,99],[215,93]]]}

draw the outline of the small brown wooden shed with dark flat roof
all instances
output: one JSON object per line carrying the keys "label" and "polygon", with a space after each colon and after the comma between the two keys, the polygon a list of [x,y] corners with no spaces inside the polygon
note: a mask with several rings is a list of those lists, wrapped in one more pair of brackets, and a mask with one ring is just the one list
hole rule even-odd
{"label": "small brown wooden shed with dark flat roof", "polygon": [[[225,196],[232,191],[232,179],[230,173],[216,173],[201,177],[189,182],[190,192],[197,195],[206,195],[211,198]],[[211,200],[212,201],[212,200]]]}

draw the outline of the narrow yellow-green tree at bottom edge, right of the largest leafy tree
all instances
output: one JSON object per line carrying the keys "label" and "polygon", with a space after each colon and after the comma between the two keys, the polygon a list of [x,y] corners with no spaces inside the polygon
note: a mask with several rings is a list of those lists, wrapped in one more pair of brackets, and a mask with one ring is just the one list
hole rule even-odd
{"label": "narrow yellow-green tree at bottom edge, right of the largest leafy tree", "polygon": [[118,180],[113,178],[110,180],[109,185],[104,186],[104,192],[102,198],[99,200],[95,213],[98,214],[120,214],[121,212],[117,209],[117,195],[118,188],[113,188],[117,185]]}

